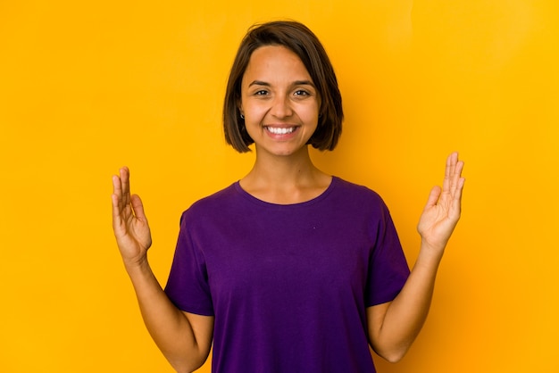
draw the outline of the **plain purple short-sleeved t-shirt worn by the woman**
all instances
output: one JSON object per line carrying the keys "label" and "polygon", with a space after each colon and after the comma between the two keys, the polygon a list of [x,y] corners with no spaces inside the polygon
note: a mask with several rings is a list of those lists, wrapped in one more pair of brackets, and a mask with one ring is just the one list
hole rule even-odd
{"label": "plain purple short-sleeved t-shirt worn by the woman", "polygon": [[380,196],[332,178],[311,201],[265,203],[237,183],[181,218],[165,292],[213,315],[213,371],[374,372],[367,307],[409,275]]}

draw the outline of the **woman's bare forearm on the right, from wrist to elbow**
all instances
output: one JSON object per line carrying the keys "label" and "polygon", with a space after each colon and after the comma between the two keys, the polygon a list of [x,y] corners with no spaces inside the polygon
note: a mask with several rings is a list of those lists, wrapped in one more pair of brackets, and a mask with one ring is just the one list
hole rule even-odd
{"label": "woman's bare forearm on the right, from wrist to elbow", "polygon": [[421,331],[430,310],[442,250],[421,243],[420,254],[400,294],[389,303],[377,330],[371,330],[374,350],[388,361],[404,357]]}

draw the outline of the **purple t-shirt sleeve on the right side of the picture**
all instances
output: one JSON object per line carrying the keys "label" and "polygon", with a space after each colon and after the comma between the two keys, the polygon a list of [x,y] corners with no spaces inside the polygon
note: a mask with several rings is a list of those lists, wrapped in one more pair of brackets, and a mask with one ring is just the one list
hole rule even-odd
{"label": "purple t-shirt sleeve on the right side of the picture", "polygon": [[371,229],[376,234],[376,239],[370,257],[365,292],[367,307],[393,301],[404,287],[410,274],[400,239],[386,204],[381,203],[379,220],[376,227],[371,227]]}

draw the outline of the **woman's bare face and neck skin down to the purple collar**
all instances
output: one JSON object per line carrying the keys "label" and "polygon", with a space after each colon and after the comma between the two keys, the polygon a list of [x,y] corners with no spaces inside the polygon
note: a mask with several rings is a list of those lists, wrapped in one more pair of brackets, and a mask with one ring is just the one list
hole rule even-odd
{"label": "woman's bare face and neck skin down to the purple collar", "polygon": [[[318,124],[320,97],[299,57],[283,46],[254,51],[241,83],[240,112],[254,140],[246,192],[270,203],[299,203],[320,195],[331,177],[314,167],[305,145]],[[286,136],[268,128],[293,129]]]}

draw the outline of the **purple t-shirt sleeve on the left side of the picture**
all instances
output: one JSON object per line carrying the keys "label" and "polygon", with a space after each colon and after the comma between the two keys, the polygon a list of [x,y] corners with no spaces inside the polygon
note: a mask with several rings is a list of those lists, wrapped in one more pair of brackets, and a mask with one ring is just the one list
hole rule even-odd
{"label": "purple t-shirt sleeve on the left side of the picture", "polygon": [[165,293],[180,310],[213,316],[204,254],[189,229],[188,211],[180,219],[179,239]]}

